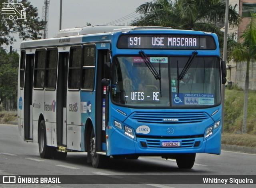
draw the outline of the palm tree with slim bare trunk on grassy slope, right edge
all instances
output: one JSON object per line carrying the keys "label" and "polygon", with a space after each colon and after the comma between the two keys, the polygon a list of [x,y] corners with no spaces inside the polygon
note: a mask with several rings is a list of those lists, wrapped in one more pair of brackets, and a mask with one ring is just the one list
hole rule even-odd
{"label": "palm tree with slim bare trunk on grassy slope, right edge", "polygon": [[233,47],[230,55],[236,62],[246,61],[246,76],[244,85],[244,116],[242,127],[242,133],[246,133],[250,61],[253,59],[256,60],[256,13],[252,14],[250,23],[246,26],[246,29],[239,39],[240,42],[238,42],[237,45]]}

